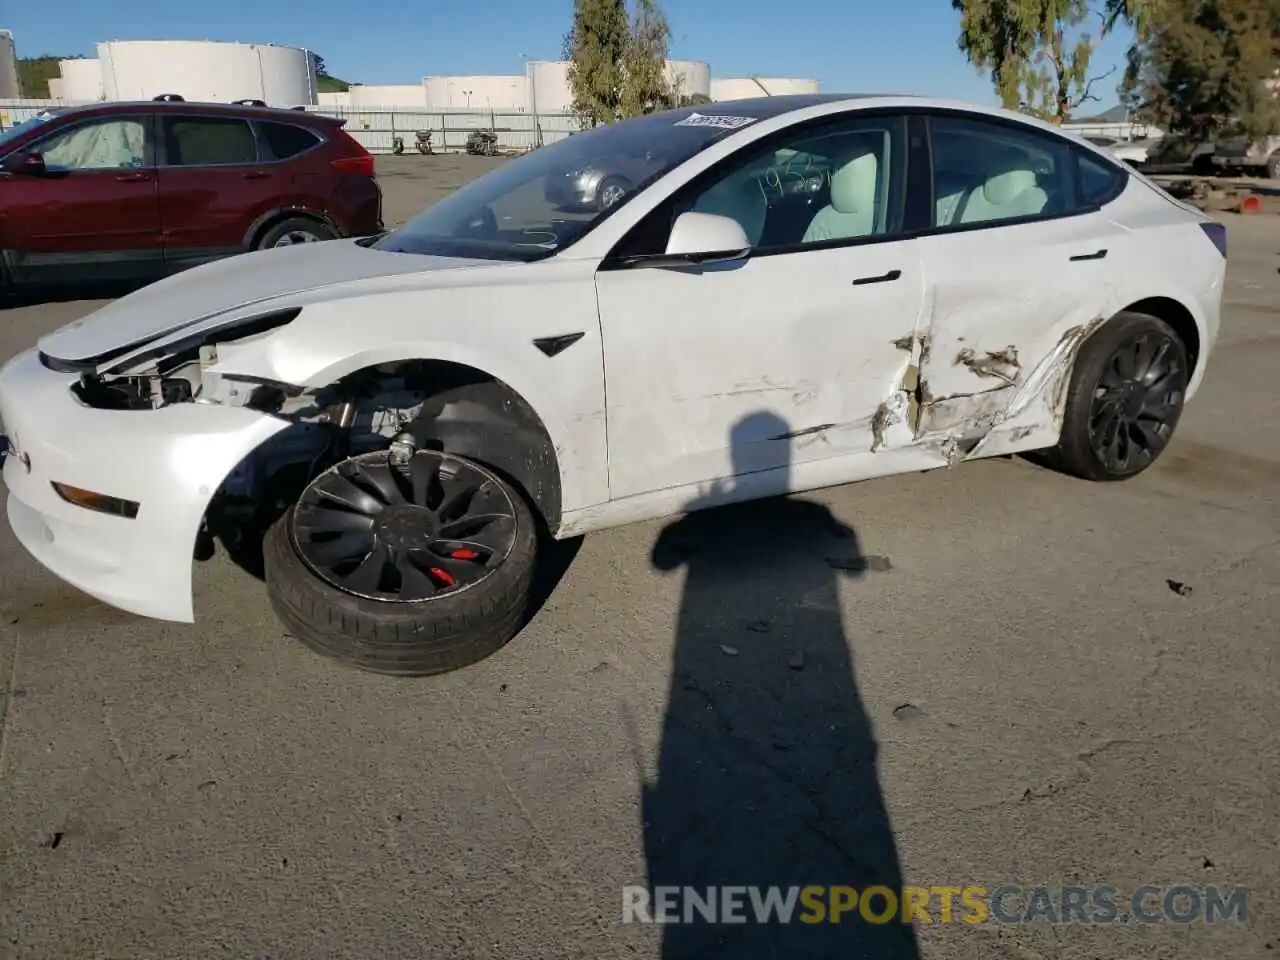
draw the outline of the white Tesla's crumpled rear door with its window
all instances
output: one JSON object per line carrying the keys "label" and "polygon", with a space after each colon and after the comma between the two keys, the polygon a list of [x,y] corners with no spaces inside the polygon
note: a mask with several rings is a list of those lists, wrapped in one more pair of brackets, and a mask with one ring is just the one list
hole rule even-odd
{"label": "white Tesla's crumpled rear door with its window", "polygon": [[929,140],[916,429],[922,440],[964,442],[1000,422],[1103,311],[1130,239],[1102,207],[1125,174],[1065,137],[987,116],[932,116]]}

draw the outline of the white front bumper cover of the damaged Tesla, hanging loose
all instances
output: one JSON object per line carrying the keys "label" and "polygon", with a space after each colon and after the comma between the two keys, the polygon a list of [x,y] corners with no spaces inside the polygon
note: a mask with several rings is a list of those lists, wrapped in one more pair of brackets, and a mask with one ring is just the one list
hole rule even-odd
{"label": "white front bumper cover of the damaged Tesla, hanging loose", "polygon": [[[35,349],[0,370],[9,525],[72,586],[132,613],[191,622],[192,558],[209,502],[288,422],[212,403],[96,410],[72,394],[76,379],[45,367]],[[137,516],[69,503],[54,483],[134,500]]]}

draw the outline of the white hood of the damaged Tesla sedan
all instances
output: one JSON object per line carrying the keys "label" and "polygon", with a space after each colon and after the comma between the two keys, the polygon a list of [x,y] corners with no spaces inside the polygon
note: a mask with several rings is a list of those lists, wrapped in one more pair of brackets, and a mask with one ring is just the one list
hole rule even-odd
{"label": "white hood of the damaged Tesla sedan", "polygon": [[220,314],[241,314],[284,297],[288,306],[298,306],[358,280],[493,265],[492,260],[390,253],[346,239],[264,250],[143,287],[42,337],[38,347],[54,360],[93,364]]}

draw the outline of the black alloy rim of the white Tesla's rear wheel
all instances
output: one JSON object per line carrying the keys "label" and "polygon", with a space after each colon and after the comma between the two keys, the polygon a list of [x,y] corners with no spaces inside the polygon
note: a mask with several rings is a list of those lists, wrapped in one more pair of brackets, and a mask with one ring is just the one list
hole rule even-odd
{"label": "black alloy rim of the white Tesla's rear wheel", "polygon": [[1089,410],[1089,445],[1108,472],[1137,472],[1169,444],[1187,390],[1181,361],[1174,338],[1149,329],[1111,353]]}

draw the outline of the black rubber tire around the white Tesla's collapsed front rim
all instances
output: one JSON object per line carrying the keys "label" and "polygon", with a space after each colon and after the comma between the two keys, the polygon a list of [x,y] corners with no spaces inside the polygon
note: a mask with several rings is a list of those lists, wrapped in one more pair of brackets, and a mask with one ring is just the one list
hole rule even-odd
{"label": "black rubber tire around the white Tesla's collapsed front rim", "polygon": [[[387,602],[358,596],[323,579],[303,558],[294,526],[300,504],[306,503],[303,493],[268,531],[262,559],[276,616],[311,650],[370,673],[422,677],[476,663],[521,628],[538,562],[532,512],[513,485],[486,467],[451,454],[422,453],[480,471],[502,493],[515,521],[506,558],[471,586],[438,598]],[[385,453],[364,454],[364,460],[379,456],[385,463]]]}

